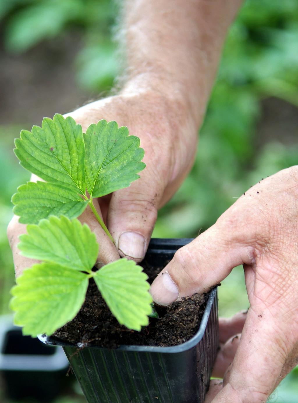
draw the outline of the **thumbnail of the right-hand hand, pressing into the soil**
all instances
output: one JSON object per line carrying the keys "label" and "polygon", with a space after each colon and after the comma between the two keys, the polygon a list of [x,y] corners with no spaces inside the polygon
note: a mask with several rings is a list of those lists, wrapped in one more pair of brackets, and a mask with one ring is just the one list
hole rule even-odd
{"label": "thumbnail of the right-hand hand, pressing into the soil", "polygon": [[153,300],[159,305],[169,305],[179,296],[178,288],[167,272],[155,278],[149,291]]}

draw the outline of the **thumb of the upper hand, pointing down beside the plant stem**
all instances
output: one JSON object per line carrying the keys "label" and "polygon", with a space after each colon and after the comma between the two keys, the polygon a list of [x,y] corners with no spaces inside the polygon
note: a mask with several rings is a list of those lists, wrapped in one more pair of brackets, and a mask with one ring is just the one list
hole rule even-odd
{"label": "thumb of the upper hand, pointing down beside the plant stem", "polygon": [[147,251],[162,194],[146,175],[141,179],[113,193],[107,215],[107,227],[120,256],[136,262]]}

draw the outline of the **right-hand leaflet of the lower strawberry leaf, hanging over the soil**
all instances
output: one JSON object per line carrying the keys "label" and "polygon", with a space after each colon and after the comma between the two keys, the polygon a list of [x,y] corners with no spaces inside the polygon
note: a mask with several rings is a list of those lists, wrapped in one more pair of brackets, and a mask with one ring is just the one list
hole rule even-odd
{"label": "right-hand leaflet of the lower strawberry leaf, hanging over the soil", "polygon": [[132,260],[120,259],[94,273],[94,280],[120,324],[134,330],[149,323],[152,297],[147,274]]}

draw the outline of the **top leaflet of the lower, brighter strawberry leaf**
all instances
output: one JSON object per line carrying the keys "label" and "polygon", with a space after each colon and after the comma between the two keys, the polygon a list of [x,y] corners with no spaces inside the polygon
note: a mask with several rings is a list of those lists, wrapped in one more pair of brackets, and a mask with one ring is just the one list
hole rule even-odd
{"label": "top leaflet of the lower, brighter strawberry leaf", "polygon": [[88,225],[64,216],[51,216],[38,225],[27,225],[27,234],[19,239],[23,256],[69,269],[91,272],[98,255],[96,237]]}

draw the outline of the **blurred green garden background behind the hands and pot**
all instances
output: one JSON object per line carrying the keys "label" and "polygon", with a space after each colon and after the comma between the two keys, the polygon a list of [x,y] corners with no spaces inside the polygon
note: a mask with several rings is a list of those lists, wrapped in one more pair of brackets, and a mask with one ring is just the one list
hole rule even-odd
{"label": "blurred green garden background behind the hands and pot", "polygon": [[[0,1],[0,314],[8,312],[14,282],[10,197],[29,178],[13,139],[44,116],[111,89],[121,72],[112,40],[117,16],[116,2],[107,0]],[[153,236],[195,237],[251,185],[298,164],[297,49],[296,0],[244,3],[229,31],[195,165],[159,212]],[[242,268],[223,281],[219,306],[228,316],[248,307]],[[8,403],[1,392],[0,399]],[[296,368],[271,401],[297,399]],[[55,403],[80,402],[76,388]]]}

